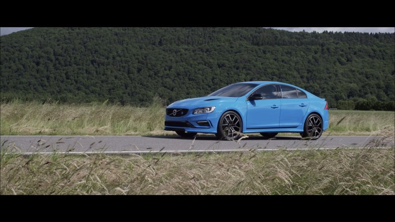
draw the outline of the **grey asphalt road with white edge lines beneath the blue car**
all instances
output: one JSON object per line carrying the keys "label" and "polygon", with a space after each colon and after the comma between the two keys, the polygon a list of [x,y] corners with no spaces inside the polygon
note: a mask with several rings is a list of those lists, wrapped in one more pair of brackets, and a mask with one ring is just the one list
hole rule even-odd
{"label": "grey asphalt road with white edge lines beneath the blue car", "polygon": [[369,136],[322,136],[318,140],[301,140],[298,136],[273,139],[250,137],[237,141],[218,141],[211,136],[0,136],[1,147],[20,153],[145,153],[189,151],[237,151],[325,148],[392,147],[394,138]]}

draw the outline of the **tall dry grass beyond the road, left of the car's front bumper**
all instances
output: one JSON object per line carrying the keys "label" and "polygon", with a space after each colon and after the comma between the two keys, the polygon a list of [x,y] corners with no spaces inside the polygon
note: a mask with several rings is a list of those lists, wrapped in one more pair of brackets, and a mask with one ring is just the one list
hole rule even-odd
{"label": "tall dry grass beyond the road, left of the car's front bumper", "polygon": [[[158,99],[157,99],[158,100]],[[164,108],[106,104],[2,103],[1,135],[165,134]],[[170,133],[171,134],[171,133]]]}

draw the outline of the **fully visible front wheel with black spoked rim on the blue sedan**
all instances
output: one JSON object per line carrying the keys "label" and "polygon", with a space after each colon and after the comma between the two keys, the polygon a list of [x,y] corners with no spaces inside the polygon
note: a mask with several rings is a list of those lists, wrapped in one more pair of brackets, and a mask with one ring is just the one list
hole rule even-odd
{"label": "fully visible front wheel with black spoked rim on the blue sedan", "polygon": [[241,133],[243,122],[241,117],[234,111],[227,111],[219,118],[217,126],[217,139],[236,140],[240,137],[236,132]]}

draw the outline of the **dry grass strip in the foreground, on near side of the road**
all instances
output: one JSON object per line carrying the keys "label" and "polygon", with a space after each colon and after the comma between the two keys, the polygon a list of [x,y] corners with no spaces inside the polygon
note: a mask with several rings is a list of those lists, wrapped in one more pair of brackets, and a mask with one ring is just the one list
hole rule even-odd
{"label": "dry grass strip in the foreground, on near side of the road", "polygon": [[1,151],[0,194],[395,194],[394,148],[185,155]]}

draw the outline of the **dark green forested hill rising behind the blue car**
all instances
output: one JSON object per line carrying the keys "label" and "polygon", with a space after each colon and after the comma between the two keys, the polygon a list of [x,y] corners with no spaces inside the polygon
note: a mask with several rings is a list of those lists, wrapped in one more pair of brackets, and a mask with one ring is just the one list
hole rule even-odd
{"label": "dark green forested hill rising behind the blue car", "polygon": [[[394,101],[392,34],[263,28],[33,28],[0,37],[1,98],[167,104],[241,81]],[[374,98],[373,98],[374,99]]]}

